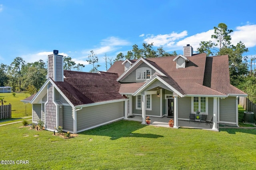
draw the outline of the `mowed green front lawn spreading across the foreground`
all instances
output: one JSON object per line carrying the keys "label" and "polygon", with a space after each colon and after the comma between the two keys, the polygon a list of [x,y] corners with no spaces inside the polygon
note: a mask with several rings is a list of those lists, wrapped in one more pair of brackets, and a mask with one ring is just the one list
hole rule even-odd
{"label": "mowed green front lawn spreading across the foreground", "polygon": [[0,127],[0,158],[29,164],[0,169],[256,169],[256,129],[214,132],[122,120],[63,139],[20,126]]}

